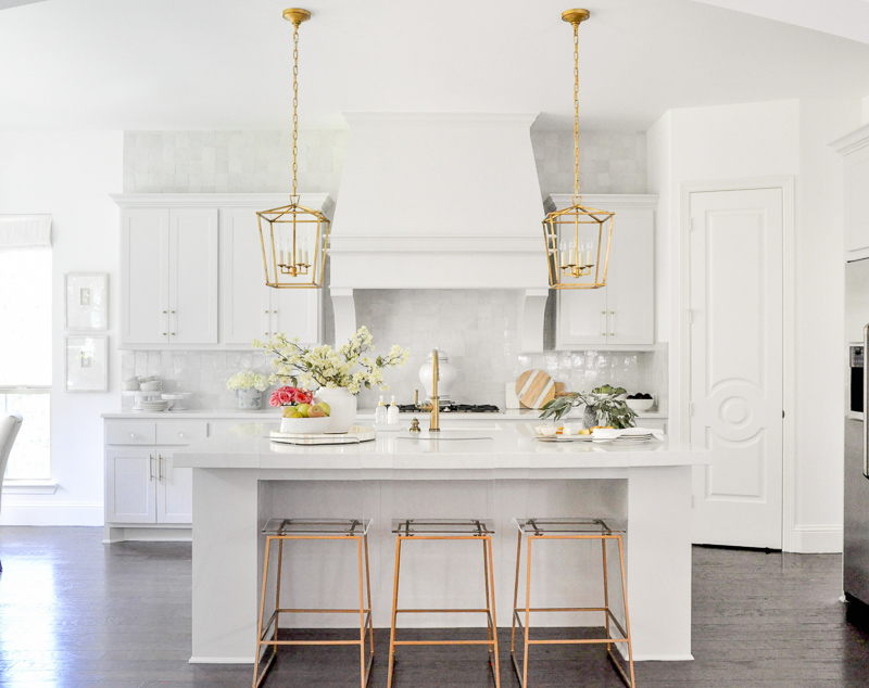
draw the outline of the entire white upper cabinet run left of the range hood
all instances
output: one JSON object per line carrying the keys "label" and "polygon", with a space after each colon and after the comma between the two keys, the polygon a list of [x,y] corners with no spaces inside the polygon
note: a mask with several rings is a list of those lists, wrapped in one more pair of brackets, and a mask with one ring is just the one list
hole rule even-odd
{"label": "entire white upper cabinet run left of the range hood", "polygon": [[[320,340],[322,291],[265,285],[256,211],[284,194],[121,194],[123,347],[240,348]],[[304,194],[328,212],[328,194]]]}

